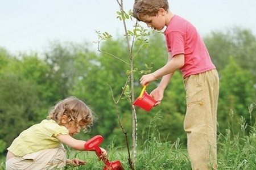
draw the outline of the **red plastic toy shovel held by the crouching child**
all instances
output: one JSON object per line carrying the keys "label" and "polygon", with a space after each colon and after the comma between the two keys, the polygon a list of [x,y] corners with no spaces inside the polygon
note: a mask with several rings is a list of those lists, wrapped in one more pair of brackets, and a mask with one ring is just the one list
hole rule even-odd
{"label": "red plastic toy shovel held by the crouching child", "polygon": [[[103,137],[101,135],[96,135],[85,143],[84,148],[88,151],[96,151],[96,154],[101,156],[100,144],[102,141]],[[102,159],[102,161],[105,163],[105,167],[103,168],[104,170],[123,170],[122,164],[119,160],[109,162],[108,159]]]}

